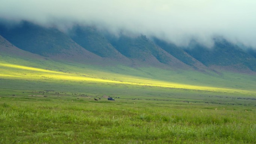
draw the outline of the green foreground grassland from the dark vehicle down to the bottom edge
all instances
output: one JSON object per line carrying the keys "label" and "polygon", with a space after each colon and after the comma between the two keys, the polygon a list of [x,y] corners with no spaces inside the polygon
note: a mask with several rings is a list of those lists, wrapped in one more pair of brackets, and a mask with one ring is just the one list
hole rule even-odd
{"label": "green foreground grassland from the dark vehicle down to the bottom edge", "polygon": [[202,102],[216,102],[214,96],[187,102],[74,95],[31,91],[1,96],[0,143],[256,143],[252,99],[222,98],[241,102],[230,105]]}

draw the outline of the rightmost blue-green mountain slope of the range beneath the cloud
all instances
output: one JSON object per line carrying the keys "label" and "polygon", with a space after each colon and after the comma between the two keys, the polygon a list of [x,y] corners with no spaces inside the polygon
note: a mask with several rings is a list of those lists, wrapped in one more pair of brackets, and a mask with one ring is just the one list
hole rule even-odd
{"label": "rightmost blue-green mountain slope of the range beneath the cloud", "polygon": [[191,42],[185,51],[208,67],[256,71],[256,58],[225,39],[214,39],[214,47],[211,49]]}

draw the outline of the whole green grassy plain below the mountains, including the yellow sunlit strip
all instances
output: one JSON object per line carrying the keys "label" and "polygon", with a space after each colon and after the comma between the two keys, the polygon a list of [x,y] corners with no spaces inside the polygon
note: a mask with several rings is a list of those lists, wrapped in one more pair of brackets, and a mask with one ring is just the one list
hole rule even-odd
{"label": "whole green grassy plain below the mountains, including the yellow sunlit strip", "polygon": [[0,144],[256,143],[254,75],[8,56],[0,68]]}

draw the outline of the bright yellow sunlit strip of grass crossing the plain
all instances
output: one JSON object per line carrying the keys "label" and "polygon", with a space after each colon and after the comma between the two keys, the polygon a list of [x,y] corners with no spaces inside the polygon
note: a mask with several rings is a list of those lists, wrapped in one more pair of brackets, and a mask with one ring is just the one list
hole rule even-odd
{"label": "bright yellow sunlit strip of grass crossing the plain", "polygon": [[[13,64],[1,64],[0,66],[9,67],[9,68],[18,68],[23,70],[29,70],[28,74],[21,75],[19,73],[10,74],[0,74],[1,77],[22,77],[25,79],[55,79],[55,80],[70,80],[70,81],[89,81],[89,82],[99,82],[99,83],[118,83],[118,84],[127,84],[127,85],[138,85],[138,86],[154,86],[154,87],[162,87],[162,88],[176,88],[176,89],[193,89],[200,91],[222,91],[222,92],[251,92],[246,90],[238,90],[238,89],[225,89],[225,88],[216,88],[216,87],[208,87],[208,86],[194,86],[194,85],[185,85],[179,83],[171,83],[171,82],[162,82],[156,80],[146,80],[146,79],[127,79],[126,81],[118,81],[118,80],[107,80],[100,78],[92,78],[92,77],[83,77],[83,76],[74,76],[74,74],[67,74],[63,72],[51,71],[51,70],[43,70],[40,68],[32,68],[25,67],[20,65]],[[45,72],[40,74],[31,73],[31,71],[39,71]],[[51,74],[49,74],[51,73]],[[126,79],[125,77],[119,77],[121,79]]]}

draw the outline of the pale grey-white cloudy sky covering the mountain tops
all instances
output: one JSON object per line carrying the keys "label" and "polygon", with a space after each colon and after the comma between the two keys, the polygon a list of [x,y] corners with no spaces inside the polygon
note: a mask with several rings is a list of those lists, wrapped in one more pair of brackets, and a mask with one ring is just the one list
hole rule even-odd
{"label": "pale grey-white cloudy sky covering the mountain tops", "polygon": [[177,45],[214,36],[256,48],[256,0],[0,0],[0,18],[97,25],[118,34],[156,36]]}

